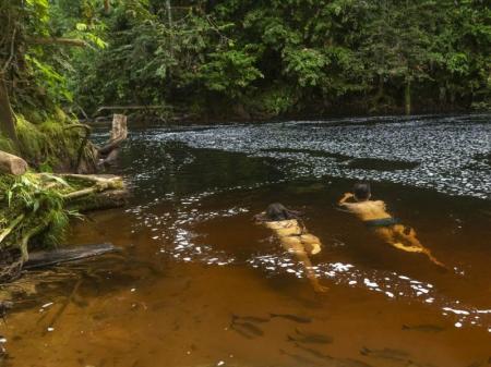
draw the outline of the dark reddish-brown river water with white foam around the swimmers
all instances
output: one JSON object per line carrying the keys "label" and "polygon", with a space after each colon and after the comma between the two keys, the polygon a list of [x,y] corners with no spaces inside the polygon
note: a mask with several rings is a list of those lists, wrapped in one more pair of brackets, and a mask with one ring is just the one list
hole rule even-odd
{"label": "dark reddish-brown river water with white foam around the swimmers", "polygon": [[[131,129],[132,203],[71,236],[122,253],[13,284],[5,365],[491,366],[490,121]],[[451,270],[339,211],[357,179]],[[322,240],[326,294],[251,221],[272,201]]]}

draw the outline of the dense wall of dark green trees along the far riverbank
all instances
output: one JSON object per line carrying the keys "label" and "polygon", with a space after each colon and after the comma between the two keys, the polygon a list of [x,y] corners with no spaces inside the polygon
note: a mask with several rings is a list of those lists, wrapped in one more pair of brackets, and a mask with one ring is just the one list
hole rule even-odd
{"label": "dense wall of dark green trees along the far riverbank", "polygon": [[483,0],[84,3],[108,42],[80,54],[70,76],[88,111],[158,105],[247,118],[490,103]]}

